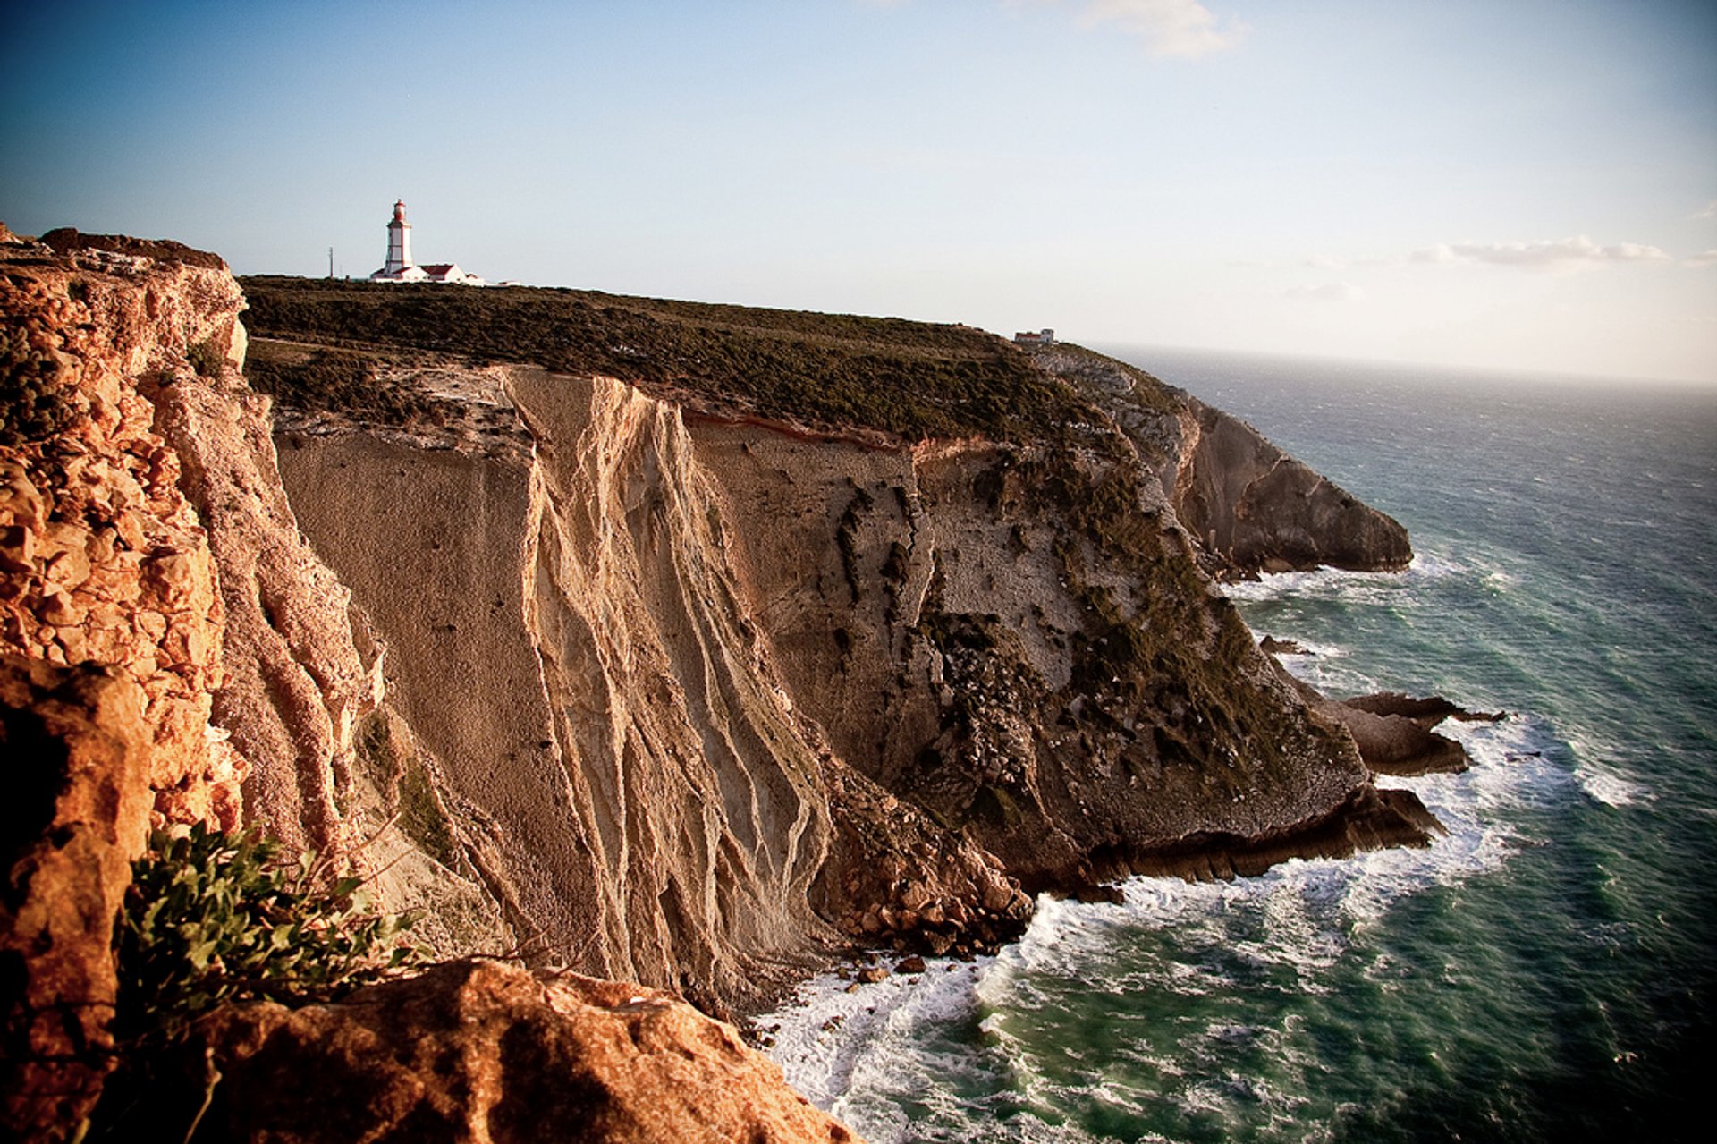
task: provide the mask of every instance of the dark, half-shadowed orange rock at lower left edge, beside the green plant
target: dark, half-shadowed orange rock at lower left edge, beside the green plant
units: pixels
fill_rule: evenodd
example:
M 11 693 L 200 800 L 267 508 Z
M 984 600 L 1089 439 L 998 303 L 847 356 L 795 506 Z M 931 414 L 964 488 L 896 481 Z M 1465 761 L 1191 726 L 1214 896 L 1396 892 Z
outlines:
M 113 670 L 0 656 L 7 1139 L 69 1139 L 113 1067 L 113 917 L 149 825 L 144 706 Z

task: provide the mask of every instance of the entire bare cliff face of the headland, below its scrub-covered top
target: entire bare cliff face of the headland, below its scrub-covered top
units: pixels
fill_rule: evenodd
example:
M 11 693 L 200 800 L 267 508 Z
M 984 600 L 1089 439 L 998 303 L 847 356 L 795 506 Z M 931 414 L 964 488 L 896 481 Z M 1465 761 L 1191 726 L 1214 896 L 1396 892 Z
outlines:
M 292 417 L 282 474 L 513 931 L 580 969 L 743 1007 L 836 934 L 986 948 L 1020 883 L 1427 837 L 1257 651 L 1137 436 L 908 445 L 531 368 L 388 383 L 452 407 Z M 1169 472 L 1183 412 L 1140 412 Z

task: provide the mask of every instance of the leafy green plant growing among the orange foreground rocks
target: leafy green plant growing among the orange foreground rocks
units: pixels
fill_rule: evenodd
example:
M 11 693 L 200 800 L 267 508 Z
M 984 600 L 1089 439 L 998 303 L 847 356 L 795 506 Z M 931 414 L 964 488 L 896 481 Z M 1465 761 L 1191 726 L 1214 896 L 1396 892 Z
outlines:
M 172 1034 L 225 1001 L 333 1000 L 417 957 L 412 919 L 379 914 L 361 878 L 254 831 L 155 833 L 118 926 L 125 1039 Z

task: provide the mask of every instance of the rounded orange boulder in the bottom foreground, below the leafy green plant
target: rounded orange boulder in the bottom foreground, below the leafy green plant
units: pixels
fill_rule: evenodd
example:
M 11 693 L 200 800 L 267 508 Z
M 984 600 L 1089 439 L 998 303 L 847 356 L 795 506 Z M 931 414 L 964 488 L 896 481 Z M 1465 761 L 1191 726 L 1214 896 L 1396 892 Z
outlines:
M 196 1123 L 213 1144 L 858 1139 L 676 996 L 496 962 L 338 1005 L 223 1008 L 156 1065 L 125 1123 L 172 1139 Z

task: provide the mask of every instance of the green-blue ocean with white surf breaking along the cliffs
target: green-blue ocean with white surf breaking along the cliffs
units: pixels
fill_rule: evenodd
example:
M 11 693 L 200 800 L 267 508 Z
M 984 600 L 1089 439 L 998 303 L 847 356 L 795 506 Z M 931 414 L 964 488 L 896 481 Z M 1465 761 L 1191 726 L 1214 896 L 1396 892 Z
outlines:
M 771 1050 L 871 1141 L 1710 1139 L 1717 392 L 1107 347 L 1413 536 L 1231 594 L 1336 696 L 1439 694 L 1427 850 L 1039 902 L 974 964 L 807 983 Z M 840 1017 L 840 1022 L 833 1022 Z

